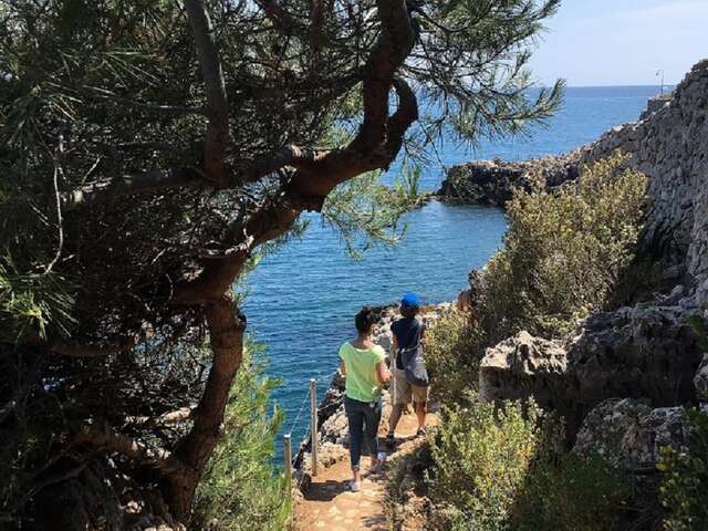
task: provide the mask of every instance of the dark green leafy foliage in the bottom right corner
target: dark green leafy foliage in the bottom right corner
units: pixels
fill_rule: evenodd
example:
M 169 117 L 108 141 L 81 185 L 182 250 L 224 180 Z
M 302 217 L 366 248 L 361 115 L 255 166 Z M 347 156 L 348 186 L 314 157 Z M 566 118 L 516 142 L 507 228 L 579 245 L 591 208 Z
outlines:
M 666 509 L 664 529 L 708 529 L 708 415 L 688 410 L 690 441 L 687 451 L 662 448 L 657 468 L 663 472 L 659 500 Z

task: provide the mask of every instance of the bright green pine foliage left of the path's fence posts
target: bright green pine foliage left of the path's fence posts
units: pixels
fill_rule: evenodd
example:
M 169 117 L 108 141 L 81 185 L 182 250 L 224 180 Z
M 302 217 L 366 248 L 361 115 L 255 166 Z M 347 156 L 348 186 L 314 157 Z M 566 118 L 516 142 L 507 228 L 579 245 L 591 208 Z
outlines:
M 270 462 L 282 414 L 269 416 L 268 397 L 278 382 L 262 372 L 251 345 L 231 388 L 225 436 L 197 490 L 195 529 L 280 531 L 290 519 L 288 482 Z

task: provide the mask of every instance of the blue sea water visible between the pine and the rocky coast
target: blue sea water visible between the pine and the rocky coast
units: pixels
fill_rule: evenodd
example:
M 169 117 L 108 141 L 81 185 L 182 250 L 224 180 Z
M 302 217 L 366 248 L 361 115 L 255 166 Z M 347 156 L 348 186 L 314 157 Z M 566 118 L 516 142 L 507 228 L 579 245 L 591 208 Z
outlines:
M 658 92 L 656 86 L 570 87 L 546 127 L 513 140 L 482 142 L 473 153 L 448 142 L 441 163 L 447 167 L 476 158 L 565 153 L 636 119 Z M 435 190 L 442 178 L 442 167 L 427 168 L 421 186 Z M 250 332 L 267 345 L 268 374 L 282 378 L 272 398 L 285 410 L 284 430 L 295 421 L 311 377 L 317 378 L 322 396 L 336 368 L 337 348 L 353 336 L 353 315 L 362 305 L 387 304 L 409 290 L 426 303 L 454 300 L 469 270 L 485 264 L 506 230 L 500 209 L 433 201 L 406 216 L 407 231 L 397 247 L 375 248 L 353 261 L 335 231 L 316 215 L 309 218 L 301 240 L 268 256 L 251 274 L 244 304 Z M 294 425 L 294 444 L 306 423 L 305 407 Z

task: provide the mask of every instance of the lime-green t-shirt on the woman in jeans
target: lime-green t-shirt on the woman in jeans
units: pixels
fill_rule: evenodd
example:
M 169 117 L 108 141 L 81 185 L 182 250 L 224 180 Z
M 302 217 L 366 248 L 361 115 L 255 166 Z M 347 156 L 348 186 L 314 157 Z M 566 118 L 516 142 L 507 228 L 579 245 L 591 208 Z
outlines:
M 384 350 L 355 348 L 350 342 L 340 347 L 340 357 L 344 361 L 346 384 L 344 394 L 360 402 L 374 402 L 381 397 L 381 384 L 376 377 L 376 365 L 386 358 Z

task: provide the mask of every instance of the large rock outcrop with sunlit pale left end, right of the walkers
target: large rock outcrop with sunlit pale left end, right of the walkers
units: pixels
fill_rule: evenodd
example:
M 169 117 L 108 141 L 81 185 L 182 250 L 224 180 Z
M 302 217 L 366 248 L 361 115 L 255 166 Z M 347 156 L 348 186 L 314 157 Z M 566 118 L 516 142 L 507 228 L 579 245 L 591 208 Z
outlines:
M 487 350 L 480 398 L 533 396 L 565 417 L 571 439 L 607 398 L 646 397 L 655 407 L 695 403 L 702 354 L 689 320 L 700 309 L 683 302 L 687 308 L 644 303 L 593 314 L 563 343 L 520 332 Z

